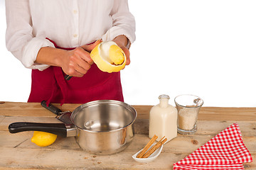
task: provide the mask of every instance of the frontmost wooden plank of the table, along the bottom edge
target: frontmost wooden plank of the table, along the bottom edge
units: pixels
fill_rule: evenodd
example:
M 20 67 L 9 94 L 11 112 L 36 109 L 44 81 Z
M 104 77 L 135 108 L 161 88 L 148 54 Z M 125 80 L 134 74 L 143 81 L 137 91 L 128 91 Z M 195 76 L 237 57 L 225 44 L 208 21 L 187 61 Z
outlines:
M 23 169 L 172 169 L 173 164 L 186 154 L 161 153 L 153 162 L 139 163 L 132 159 L 132 152 L 110 155 L 93 155 L 80 150 L 1 148 L 0 166 Z M 14 154 L 15 153 L 15 154 Z M 111 159 L 110 159 L 111 157 Z M 256 158 L 252 154 L 253 159 Z M 255 162 L 246 164 L 255 169 Z

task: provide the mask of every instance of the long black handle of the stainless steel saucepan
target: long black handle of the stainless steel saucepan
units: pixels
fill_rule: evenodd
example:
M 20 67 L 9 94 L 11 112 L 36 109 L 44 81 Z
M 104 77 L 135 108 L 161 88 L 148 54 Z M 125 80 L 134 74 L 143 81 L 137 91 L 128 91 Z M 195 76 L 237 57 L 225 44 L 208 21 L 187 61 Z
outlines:
M 64 123 L 26 123 L 17 122 L 9 125 L 9 132 L 41 131 L 49 132 L 61 137 L 67 137 L 67 128 Z

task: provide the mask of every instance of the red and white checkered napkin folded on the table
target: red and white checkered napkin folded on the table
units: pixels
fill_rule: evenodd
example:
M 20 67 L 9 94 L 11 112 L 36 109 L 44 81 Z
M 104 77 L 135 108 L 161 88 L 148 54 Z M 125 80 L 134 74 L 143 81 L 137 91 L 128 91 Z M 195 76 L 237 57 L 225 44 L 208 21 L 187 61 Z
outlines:
M 249 150 L 242 142 L 238 123 L 230 125 L 205 145 L 174 164 L 174 169 L 245 169 L 244 162 L 252 162 Z

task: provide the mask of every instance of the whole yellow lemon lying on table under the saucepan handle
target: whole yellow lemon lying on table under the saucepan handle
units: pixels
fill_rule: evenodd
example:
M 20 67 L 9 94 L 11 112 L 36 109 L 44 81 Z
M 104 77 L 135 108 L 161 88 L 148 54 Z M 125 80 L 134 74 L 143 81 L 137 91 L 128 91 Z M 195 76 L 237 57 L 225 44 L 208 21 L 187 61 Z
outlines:
M 57 135 L 48 132 L 33 132 L 31 142 L 35 143 L 39 147 L 47 147 L 55 142 Z

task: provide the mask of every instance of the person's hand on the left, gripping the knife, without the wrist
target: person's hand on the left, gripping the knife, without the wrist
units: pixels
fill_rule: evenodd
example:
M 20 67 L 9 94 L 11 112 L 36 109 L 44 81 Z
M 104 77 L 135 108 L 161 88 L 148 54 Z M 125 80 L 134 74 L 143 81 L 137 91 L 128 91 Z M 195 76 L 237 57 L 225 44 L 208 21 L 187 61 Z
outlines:
M 82 77 L 86 74 L 93 64 L 90 52 L 99 43 L 100 40 L 97 40 L 91 45 L 82 45 L 74 50 L 66 51 L 60 66 L 63 72 L 73 77 Z

